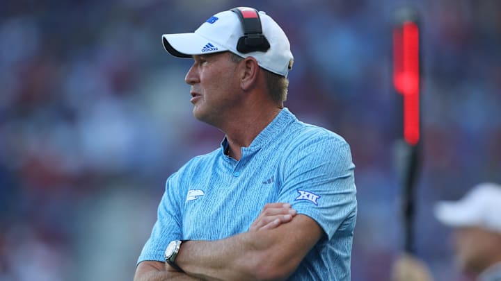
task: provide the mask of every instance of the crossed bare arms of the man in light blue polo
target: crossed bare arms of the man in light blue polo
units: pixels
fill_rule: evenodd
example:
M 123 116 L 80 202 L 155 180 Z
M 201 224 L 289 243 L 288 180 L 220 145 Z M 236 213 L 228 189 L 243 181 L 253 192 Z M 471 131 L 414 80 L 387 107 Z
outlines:
M 136 281 L 284 280 L 322 235 L 309 216 L 296 215 L 289 204 L 268 204 L 248 232 L 216 241 L 186 241 L 176 263 L 141 262 Z

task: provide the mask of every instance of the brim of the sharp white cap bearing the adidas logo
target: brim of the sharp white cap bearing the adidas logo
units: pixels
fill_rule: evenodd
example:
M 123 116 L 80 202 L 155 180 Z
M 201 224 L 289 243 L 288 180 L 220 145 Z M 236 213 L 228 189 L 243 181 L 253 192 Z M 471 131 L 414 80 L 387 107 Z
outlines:
M 164 34 L 162 35 L 162 42 L 166 51 L 179 58 L 191 58 L 193 55 L 228 51 L 225 47 L 210 42 L 210 40 L 197 33 Z M 209 43 L 212 44 L 212 47 L 204 48 Z

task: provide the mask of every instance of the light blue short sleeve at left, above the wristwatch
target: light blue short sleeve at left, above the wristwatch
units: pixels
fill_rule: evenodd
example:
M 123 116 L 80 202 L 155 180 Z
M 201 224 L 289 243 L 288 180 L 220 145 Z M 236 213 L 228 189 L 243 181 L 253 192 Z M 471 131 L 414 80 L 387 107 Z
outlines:
M 165 249 L 170 241 L 182 239 L 181 205 L 179 196 L 178 175 L 174 173 L 166 182 L 164 196 L 162 196 L 158 211 L 157 222 L 154 223 L 152 233 L 146 241 L 138 264 L 145 260 L 164 262 Z

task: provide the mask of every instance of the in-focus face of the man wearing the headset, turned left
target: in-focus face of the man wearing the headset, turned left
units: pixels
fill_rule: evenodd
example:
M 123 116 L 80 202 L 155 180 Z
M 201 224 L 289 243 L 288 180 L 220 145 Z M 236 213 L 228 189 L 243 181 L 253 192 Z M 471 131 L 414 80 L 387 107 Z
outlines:
M 193 56 L 193 65 L 184 80 L 191 85 L 193 115 L 218 126 L 239 101 L 238 63 L 229 52 Z

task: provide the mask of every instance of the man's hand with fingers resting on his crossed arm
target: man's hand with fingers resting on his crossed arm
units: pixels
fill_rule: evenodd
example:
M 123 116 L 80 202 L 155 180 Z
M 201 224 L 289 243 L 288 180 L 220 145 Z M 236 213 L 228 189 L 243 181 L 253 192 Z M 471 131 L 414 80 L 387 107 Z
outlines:
M 250 225 L 249 231 L 270 230 L 283 223 L 292 221 L 296 216 L 296 210 L 289 203 L 268 203 L 264 205 L 261 214 Z

